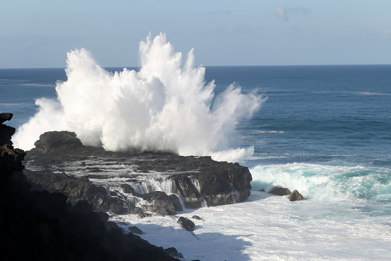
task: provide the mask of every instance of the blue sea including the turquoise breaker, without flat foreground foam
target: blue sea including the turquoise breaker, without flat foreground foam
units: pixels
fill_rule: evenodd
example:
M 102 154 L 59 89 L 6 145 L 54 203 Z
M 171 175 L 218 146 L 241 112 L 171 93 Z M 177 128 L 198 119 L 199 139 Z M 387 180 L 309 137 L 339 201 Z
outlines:
M 236 83 L 268 97 L 233 137 L 255 148 L 254 190 L 281 185 L 311 198 L 328 189 L 391 214 L 391 65 L 208 66 L 205 78 L 216 93 Z M 21 126 L 65 80 L 63 68 L 0 69 L 0 111 Z

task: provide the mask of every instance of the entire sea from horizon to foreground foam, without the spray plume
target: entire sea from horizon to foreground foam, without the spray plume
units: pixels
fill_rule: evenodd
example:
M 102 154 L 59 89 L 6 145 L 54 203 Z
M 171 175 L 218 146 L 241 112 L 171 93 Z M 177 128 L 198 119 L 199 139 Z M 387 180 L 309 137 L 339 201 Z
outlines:
M 22 126 L 66 80 L 64 68 L 0 69 L 0 112 L 14 113 L 5 124 Z M 194 233 L 172 217 L 111 219 L 185 260 L 391 260 L 391 65 L 206 66 L 212 80 L 216 94 L 235 82 L 267 97 L 230 141 L 254 146 L 242 163 L 251 196 L 180 213 L 203 218 Z M 307 200 L 260 192 L 275 186 Z

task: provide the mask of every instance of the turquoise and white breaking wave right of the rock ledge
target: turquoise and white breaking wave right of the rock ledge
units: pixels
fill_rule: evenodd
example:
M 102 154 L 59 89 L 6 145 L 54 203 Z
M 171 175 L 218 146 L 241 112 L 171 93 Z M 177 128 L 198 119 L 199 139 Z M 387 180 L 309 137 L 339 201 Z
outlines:
M 391 202 L 391 169 L 305 163 L 258 165 L 250 169 L 253 190 L 276 186 L 318 199 L 360 198 Z

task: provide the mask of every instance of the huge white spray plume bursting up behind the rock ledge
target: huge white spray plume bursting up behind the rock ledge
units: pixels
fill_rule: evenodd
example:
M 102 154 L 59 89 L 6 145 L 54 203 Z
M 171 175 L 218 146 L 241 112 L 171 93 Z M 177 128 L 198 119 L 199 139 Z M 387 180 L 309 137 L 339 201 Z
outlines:
M 231 149 L 235 124 L 252 117 L 262 97 L 242 94 L 230 85 L 212 108 L 214 82 L 205 68 L 194 66 L 193 49 L 182 66 L 166 35 L 140 43 L 140 71 L 114 74 L 95 63 L 86 49 L 67 53 L 67 81 L 57 82 L 57 101 L 38 99 L 38 112 L 13 138 L 30 150 L 45 131 L 74 131 L 84 145 L 108 151 L 164 151 L 212 155 L 215 160 L 243 161 L 253 147 Z

